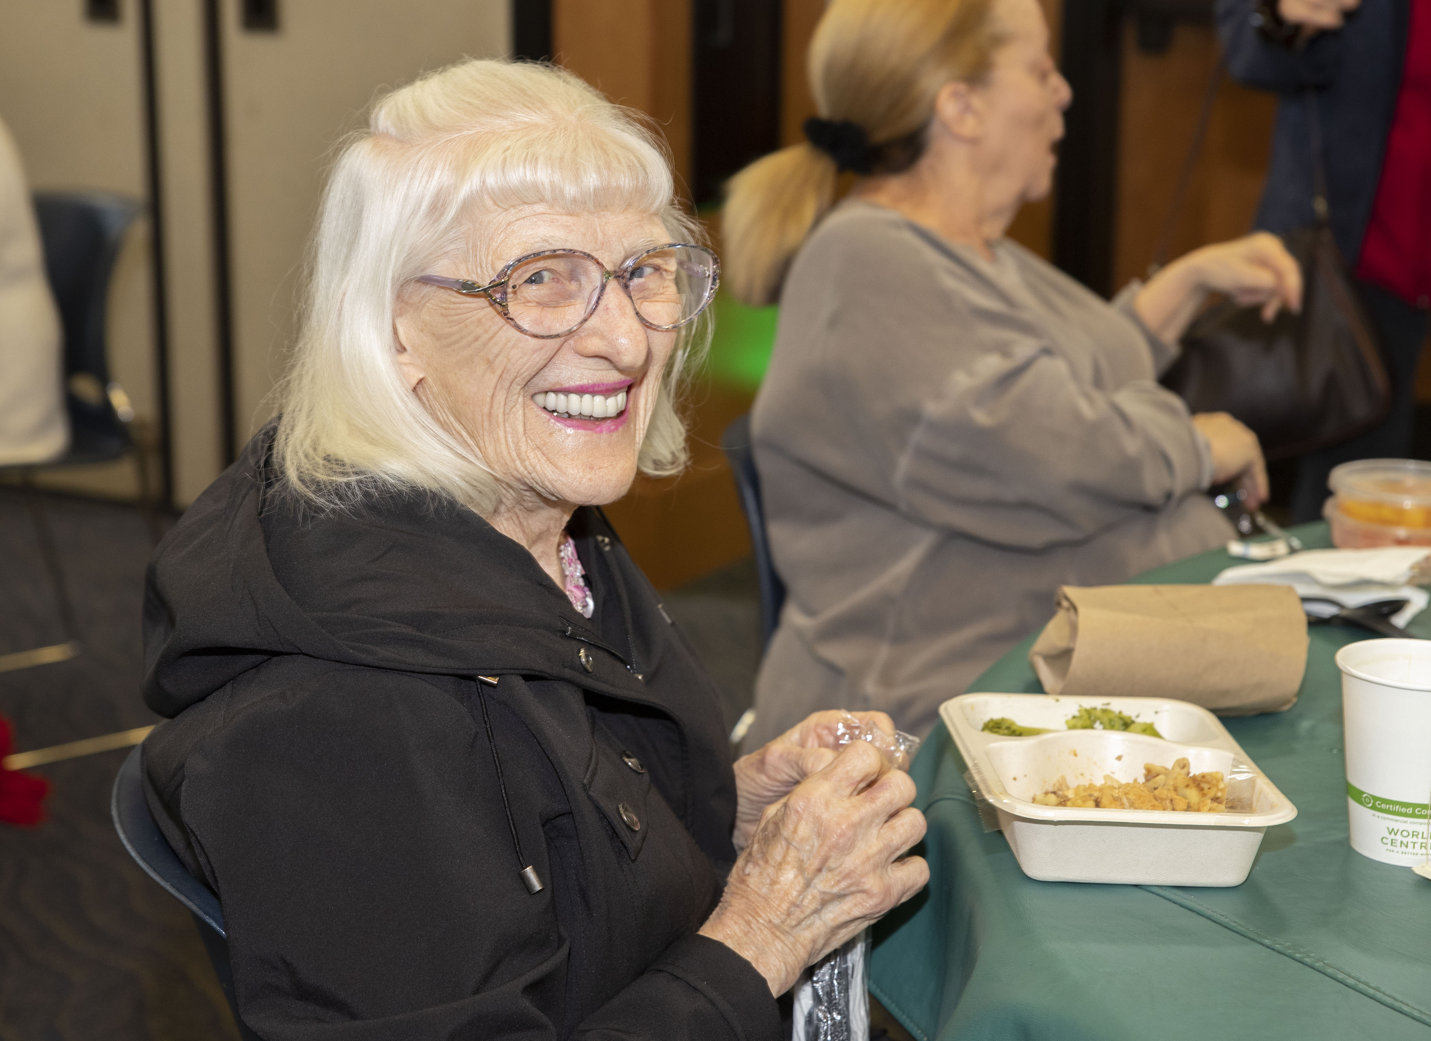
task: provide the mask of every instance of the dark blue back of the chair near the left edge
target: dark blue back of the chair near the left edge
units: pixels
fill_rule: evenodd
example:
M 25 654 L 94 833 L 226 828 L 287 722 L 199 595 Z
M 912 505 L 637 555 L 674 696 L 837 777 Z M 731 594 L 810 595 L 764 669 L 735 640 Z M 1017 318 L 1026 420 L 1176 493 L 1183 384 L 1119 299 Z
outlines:
M 64 330 L 69 462 L 112 459 L 129 448 L 129 435 L 110 400 L 104 329 L 114 262 L 142 210 L 133 199 L 102 192 L 34 196 L 44 272 Z

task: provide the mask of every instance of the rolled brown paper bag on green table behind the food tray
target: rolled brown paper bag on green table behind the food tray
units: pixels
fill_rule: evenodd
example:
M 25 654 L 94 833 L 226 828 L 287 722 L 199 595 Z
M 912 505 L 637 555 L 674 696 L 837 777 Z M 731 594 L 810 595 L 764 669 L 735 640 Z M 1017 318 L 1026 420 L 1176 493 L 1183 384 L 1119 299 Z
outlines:
M 1069 698 L 1284 712 L 1307 668 L 1307 615 L 1284 585 L 1062 586 L 1029 662 Z

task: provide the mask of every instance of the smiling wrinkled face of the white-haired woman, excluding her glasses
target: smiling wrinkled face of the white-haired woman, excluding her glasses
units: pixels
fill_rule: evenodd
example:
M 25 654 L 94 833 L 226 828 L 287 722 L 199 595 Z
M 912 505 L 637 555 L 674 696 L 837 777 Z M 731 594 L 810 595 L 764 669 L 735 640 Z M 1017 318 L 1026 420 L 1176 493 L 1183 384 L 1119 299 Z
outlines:
M 512 260 L 544 249 L 578 249 L 617 270 L 628 257 L 670 242 L 650 213 L 507 212 L 484 226 L 485 270 L 438 265 L 432 275 L 487 285 Z M 570 505 L 621 498 L 661 393 L 677 332 L 637 319 L 612 279 L 601 305 L 577 332 L 535 339 L 508 325 L 482 296 L 411 286 L 398 300 L 398 362 L 408 386 L 448 429 L 458 429 L 494 476 L 517 495 Z M 587 398 L 601 418 L 581 418 Z M 548 409 L 565 403 L 567 416 Z

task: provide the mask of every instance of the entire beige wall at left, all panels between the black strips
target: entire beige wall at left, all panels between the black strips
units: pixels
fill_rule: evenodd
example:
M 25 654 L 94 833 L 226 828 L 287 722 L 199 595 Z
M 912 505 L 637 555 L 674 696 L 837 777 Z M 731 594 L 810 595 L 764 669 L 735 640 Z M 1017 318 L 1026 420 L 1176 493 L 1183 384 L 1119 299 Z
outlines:
M 519 0 L 518 0 L 519 1 Z M 278 33 L 245 31 L 222 0 L 235 325 L 236 438 L 270 415 L 293 337 L 295 292 L 331 149 L 381 87 L 462 56 L 509 50 L 509 0 L 280 0 Z M 218 476 L 209 149 L 200 0 L 155 0 L 165 192 L 175 499 Z M 0 117 L 31 187 L 146 194 L 137 3 L 120 24 L 83 0 L 0 0 Z M 149 226 L 126 243 L 110 299 L 114 376 L 153 418 Z M 127 465 L 69 472 L 64 486 L 133 495 Z M 56 483 L 56 480 L 50 480 Z

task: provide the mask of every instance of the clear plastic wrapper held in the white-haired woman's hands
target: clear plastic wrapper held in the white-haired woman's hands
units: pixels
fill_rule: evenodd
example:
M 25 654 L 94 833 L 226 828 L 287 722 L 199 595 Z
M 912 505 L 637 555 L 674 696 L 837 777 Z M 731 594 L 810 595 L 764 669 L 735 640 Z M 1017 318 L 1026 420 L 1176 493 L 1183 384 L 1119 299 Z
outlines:
M 892 769 L 909 769 L 919 738 L 896 731 L 893 736 L 866 726 L 846 712 L 836 724 L 836 744 L 867 741 L 880 749 Z M 836 948 L 801 974 L 796 984 L 793 1041 L 866 1041 L 870 1035 L 870 931 Z

